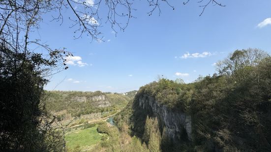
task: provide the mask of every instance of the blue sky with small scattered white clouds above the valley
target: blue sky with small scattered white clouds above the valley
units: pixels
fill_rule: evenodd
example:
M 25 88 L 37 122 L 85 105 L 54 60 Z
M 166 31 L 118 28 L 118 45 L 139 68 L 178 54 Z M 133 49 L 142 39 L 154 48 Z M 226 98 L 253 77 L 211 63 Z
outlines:
M 87 36 L 73 39 L 75 29 L 69 28 L 67 19 L 73 15 L 70 9 L 63 13 L 62 25 L 50 22 L 54 13 L 44 15 L 32 38 L 77 56 L 45 89 L 126 92 L 158 75 L 189 83 L 199 75 L 212 75 L 213 64 L 237 49 L 271 53 L 271 0 L 221 0 L 226 7 L 210 5 L 201 17 L 202 8 L 194 0 L 186 5 L 181 0 L 170 2 L 174 10 L 161 3 L 160 16 L 157 11 L 148 16 L 148 3 L 135 1 L 137 18 L 124 32 L 117 30 L 117 36 L 101 21 L 105 41 L 101 43 Z

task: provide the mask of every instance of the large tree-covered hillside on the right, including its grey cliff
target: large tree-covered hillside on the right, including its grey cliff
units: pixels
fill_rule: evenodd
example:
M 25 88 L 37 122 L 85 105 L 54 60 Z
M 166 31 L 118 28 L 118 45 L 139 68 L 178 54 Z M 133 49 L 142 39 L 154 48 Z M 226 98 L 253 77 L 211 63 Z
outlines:
M 213 76 L 189 84 L 161 78 L 141 87 L 115 121 L 119 128 L 128 124 L 149 149 L 155 139 L 151 152 L 268 152 L 270 86 L 270 55 L 237 50 L 217 63 Z

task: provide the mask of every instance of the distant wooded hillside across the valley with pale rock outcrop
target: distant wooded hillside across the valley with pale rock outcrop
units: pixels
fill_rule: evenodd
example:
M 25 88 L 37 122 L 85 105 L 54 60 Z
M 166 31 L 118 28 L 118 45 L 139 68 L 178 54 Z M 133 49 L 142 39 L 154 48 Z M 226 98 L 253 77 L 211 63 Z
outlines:
M 80 117 L 91 113 L 114 113 L 132 99 L 122 94 L 100 91 L 46 91 L 45 93 L 47 110 L 56 113 L 61 119 L 64 118 L 63 114 Z

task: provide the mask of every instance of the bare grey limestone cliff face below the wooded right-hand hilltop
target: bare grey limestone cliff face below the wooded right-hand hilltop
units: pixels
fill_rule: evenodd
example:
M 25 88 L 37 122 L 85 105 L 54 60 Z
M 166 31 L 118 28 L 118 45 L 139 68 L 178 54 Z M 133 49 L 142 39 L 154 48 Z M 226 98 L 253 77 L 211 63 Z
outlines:
M 167 136 L 173 141 L 181 139 L 183 129 L 187 133 L 188 140 L 192 141 L 191 116 L 169 109 L 166 105 L 160 104 L 154 98 L 147 95 L 139 98 L 140 108 L 151 110 L 152 116 L 157 117 L 166 129 Z

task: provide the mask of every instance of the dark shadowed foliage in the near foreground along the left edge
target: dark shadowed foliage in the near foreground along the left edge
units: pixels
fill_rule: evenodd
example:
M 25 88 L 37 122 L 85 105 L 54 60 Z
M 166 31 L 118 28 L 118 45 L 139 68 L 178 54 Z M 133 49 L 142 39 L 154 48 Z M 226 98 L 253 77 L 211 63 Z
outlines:
M 13 48 L 2 38 L 0 42 L 0 151 L 34 152 L 61 149 L 62 135 L 51 126 L 56 119 L 50 118 L 44 108 L 43 87 L 48 82 L 45 76 L 63 62 L 62 51 L 49 50 L 50 55 L 43 56 L 27 48 L 24 50 Z M 16 41 L 11 40 L 11 42 Z M 16 45 L 20 46 L 19 43 Z

